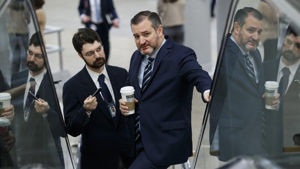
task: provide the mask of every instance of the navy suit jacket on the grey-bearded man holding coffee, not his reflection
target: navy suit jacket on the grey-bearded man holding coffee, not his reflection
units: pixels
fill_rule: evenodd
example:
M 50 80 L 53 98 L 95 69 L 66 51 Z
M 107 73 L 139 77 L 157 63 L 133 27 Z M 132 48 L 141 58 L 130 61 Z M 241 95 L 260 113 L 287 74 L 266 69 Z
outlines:
M 137 79 L 141 60 L 138 50 L 132 54 L 126 86 L 133 86 L 140 110 L 140 129 L 144 149 L 159 166 L 185 163 L 192 155 L 191 100 L 193 88 L 203 94 L 211 87 L 211 78 L 196 60 L 195 52 L 172 38 L 160 48 L 150 81 L 143 95 Z M 131 157 L 134 158 L 135 114 L 128 116 Z

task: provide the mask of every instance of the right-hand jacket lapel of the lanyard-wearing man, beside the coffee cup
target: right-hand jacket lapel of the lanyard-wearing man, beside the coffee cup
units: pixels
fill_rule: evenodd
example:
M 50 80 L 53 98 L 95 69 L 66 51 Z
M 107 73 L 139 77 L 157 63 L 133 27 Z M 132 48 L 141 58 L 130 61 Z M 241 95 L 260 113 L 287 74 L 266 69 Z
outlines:
M 106 70 L 107 70 L 107 73 L 109 75 L 109 80 L 110 80 L 110 83 L 112 85 L 112 88 L 113 88 L 113 95 L 115 96 L 115 108 L 116 108 L 116 116 L 115 116 L 115 127 L 117 126 L 118 124 L 118 121 L 120 119 L 120 105 L 118 104 L 119 103 L 119 99 L 121 98 L 121 93 L 120 93 L 120 88 L 122 86 L 120 86 L 120 81 L 118 80 L 117 78 L 117 74 L 107 65 L 106 66 Z

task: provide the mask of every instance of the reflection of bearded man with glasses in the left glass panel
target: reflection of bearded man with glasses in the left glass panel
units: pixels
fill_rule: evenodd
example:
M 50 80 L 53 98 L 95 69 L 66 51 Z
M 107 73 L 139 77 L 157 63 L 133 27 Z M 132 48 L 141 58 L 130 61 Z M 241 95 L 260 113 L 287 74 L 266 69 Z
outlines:
M 29 40 L 27 67 L 28 70 L 11 78 L 11 88 L 24 86 L 24 94 L 12 101 L 15 107 L 12 127 L 16 135 L 17 163 L 20 166 L 44 163 L 61 167 L 64 165 L 60 141 L 62 125 L 36 33 Z

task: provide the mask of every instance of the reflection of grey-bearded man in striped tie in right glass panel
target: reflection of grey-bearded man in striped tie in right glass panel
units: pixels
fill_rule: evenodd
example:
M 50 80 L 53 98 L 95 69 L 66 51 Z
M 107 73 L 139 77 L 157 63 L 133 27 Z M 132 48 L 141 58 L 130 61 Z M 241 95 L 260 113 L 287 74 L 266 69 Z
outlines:
M 263 16 L 251 7 L 236 12 L 221 61 L 210 109 L 210 144 L 219 160 L 265 154 L 263 128 L 264 73 L 259 50 Z M 278 96 L 273 106 L 278 105 Z M 216 132 L 218 131 L 218 132 Z M 212 149 L 213 147 L 211 147 Z

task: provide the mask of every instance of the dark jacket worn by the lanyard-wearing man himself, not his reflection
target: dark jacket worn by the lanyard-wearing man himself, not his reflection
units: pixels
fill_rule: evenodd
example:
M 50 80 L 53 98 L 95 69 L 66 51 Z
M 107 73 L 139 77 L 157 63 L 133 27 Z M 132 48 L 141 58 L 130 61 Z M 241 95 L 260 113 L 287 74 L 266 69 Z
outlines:
M 105 65 L 115 101 L 121 99 L 120 89 L 124 86 L 128 73 L 125 69 Z M 67 133 L 81 139 L 81 168 L 117 168 L 119 155 L 125 165 L 130 165 L 128 156 L 129 131 L 127 119 L 121 115 L 116 104 L 116 124 L 101 95 L 97 95 L 97 108 L 89 119 L 83 107 L 84 101 L 97 90 L 86 67 L 70 78 L 63 87 L 64 116 Z

